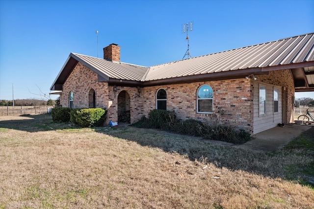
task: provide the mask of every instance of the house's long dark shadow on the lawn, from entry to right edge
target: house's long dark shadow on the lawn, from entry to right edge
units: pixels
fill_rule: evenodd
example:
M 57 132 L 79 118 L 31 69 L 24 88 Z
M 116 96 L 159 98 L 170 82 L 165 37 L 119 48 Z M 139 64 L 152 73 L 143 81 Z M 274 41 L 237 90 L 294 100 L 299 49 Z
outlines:
M 102 129 L 96 128 L 95 131 L 102 132 Z M 187 156 L 191 161 L 213 163 L 217 167 L 243 170 L 265 177 L 293 180 L 314 188 L 314 177 L 312 173 L 309 175 L 308 172 L 314 169 L 314 150 L 311 149 L 286 148 L 273 153 L 266 153 L 242 149 L 231 143 L 221 141 L 134 127 L 117 127 L 103 133 L 134 141 L 142 146 L 160 148 L 169 153 L 178 153 Z M 300 137 L 308 136 L 311 138 L 314 136 L 312 133 L 314 133 L 314 127 Z M 314 141 L 314 139 L 312 140 Z M 310 161 L 312 163 L 309 163 Z

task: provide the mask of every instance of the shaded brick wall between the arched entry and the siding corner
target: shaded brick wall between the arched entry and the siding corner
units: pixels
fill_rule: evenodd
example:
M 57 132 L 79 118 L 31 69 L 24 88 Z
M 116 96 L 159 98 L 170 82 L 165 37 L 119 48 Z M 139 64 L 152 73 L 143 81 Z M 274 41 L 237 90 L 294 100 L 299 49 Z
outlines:
M 213 113 L 196 113 L 196 96 L 200 86 L 207 84 L 213 90 Z M 143 110 L 141 114 L 134 113 L 131 122 L 139 120 L 143 115 L 148 116 L 156 109 L 156 93 L 159 89 L 166 90 L 167 110 L 174 111 L 179 119 L 194 118 L 205 122 L 219 121 L 235 125 L 241 129 L 251 130 L 253 127 L 251 113 L 251 84 L 247 79 L 232 79 L 223 81 L 196 82 L 189 84 L 162 85 L 145 87 L 141 93 Z M 224 114 L 218 113 L 224 110 Z

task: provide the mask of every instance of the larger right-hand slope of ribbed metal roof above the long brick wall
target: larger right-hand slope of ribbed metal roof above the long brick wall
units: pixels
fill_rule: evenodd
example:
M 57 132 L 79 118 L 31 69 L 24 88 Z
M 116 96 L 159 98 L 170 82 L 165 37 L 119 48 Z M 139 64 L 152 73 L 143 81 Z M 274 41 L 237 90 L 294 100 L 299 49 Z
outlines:
M 145 81 L 272 66 L 289 69 L 289 64 L 309 61 L 314 61 L 314 33 L 153 66 Z

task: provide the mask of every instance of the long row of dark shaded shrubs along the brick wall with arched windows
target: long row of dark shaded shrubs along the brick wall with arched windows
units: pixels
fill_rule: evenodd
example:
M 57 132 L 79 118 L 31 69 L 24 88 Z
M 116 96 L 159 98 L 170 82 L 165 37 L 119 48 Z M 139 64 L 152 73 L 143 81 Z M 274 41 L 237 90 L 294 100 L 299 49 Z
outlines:
M 133 123 L 132 126 L 138 128 L 156 128 L 178 134 L 227 141 L 235 144 L 241 144 L 252 139 L 249 133 L 244 130 L 235 131 L 230 125 L 219 123 L 206 124 L 195 119 L 179 121 L 174 112 L 166 110 L 152 110 L 148 114 L 148 118 L 142 117 L 139 121 Z

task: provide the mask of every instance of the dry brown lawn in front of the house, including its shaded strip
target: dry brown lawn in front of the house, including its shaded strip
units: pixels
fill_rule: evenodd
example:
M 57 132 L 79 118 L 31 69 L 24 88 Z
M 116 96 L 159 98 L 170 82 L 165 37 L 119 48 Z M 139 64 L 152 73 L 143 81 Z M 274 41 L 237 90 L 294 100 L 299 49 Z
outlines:
M 0 117 L 0 208 L 314 208 L 313 189 L 285 180 L 313 162 L 297 153 L 29 118 Z

